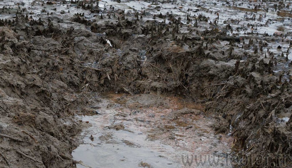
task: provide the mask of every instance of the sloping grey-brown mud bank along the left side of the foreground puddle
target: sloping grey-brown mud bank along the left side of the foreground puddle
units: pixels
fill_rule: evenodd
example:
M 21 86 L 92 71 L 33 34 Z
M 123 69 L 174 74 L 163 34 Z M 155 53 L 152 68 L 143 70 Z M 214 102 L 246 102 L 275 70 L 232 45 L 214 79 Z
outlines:
M 75 93 L 82 71 L 75 59 L 46 53 L 61 50 L 51 38 L 20 40 L 5 27 L 0 34 L 1 166 L 71 167 L 83 125 L 72 116 L 92 97 Z

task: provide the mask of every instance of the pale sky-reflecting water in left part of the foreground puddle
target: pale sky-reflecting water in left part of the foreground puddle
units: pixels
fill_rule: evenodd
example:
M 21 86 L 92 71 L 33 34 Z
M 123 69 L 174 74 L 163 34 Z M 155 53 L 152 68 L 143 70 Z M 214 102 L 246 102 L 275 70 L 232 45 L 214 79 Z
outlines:
M 101 115 L 78 116 L 84 121 L 89 121 L 92 127 L 84 134 L 84 143 L 72 153 L 76 160 L 81 160 L 90 167 L 137 167 L 138 164 L 146 162 L 153 167 L 178 167 L 178 161 L 173 160 L 175 152 L 171 146 L 164 145 L 160 141 L 147 141 L 146 134 L 131 127 L 133 121 L 118 121 L 115 115 L 118 111 L 106 105 L 111 101 L 105 101 L 104 107 L 100 108 Z M 117 105 L 118 107 L 119 105 Z M 127 130 L 108 129 L 106 126 L 122 124 Z M 94 139 L 91 139 L 91 135 Z M 107 138 L 107 135 L 110 135 Z M 128 146 L 124 141 L 137 144 Z M 163 157 L 161 157 L 163 156 Z M 78 165 L 77 167 L 84 167 Z

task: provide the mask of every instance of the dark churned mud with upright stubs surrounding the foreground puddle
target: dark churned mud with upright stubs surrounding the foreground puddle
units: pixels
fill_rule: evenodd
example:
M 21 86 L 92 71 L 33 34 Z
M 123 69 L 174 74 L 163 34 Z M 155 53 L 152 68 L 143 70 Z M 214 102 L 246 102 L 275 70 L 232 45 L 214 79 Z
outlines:
M 11 17 L 0 20 L 2 165 L 74 166 L 71 151 L 82 122 L 73 115 L 91 111 L 85 108 L 89 92 L 105 90 L 205 102 L 216 131 L 227 134 L 232 126 L 240 153 L 234 156 L 263 154 L 275 165 L 283 155 L 290 159 L 291 121 L 279 119 L 292 105 L 290 34 L 256 32 L 276 21 L 263 15 L 268 7 L 285 14 L 288 2 L 249 3 L 245 20 L 221 18 L 201 5 L 196 12 L 211 18 L 187 9 L 187 15 L 162 14 L 156 3 L 128 12 L 98 1 L 29 2 L 38 12 L 1 8 Z M 267 22 L 247 24 L 256 20 Z

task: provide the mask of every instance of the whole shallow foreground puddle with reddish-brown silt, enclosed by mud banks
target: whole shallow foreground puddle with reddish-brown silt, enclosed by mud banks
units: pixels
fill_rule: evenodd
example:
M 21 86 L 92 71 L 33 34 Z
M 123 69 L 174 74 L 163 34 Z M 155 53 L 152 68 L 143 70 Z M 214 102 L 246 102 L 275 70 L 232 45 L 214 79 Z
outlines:
M 92 126 L 83 132 L 83 143 L 72 153 L 74 160 L 82 161 L 77 167 L 185 167 L 187 156 L 191 167 L 231 167 L 226 153 L 233 139 L 222 135 L 218 140 L 208 126 L 210 119 L 190 114 L 172 118 L 172 109 L 190 103 L 176 97 L 103 95 L 106 97 L 98 104 L 100 115 L 78 116 Z M 161 105 L 166 99 L 170 104 Z M 152 100 L 148 108 L 143 106 L 145 100 Z M 131 106 L 136 101 L 143 107 Z M 196 107 L 202 105 L 190 109 Z M 204 157 L 202 165 L 199 162 Z

